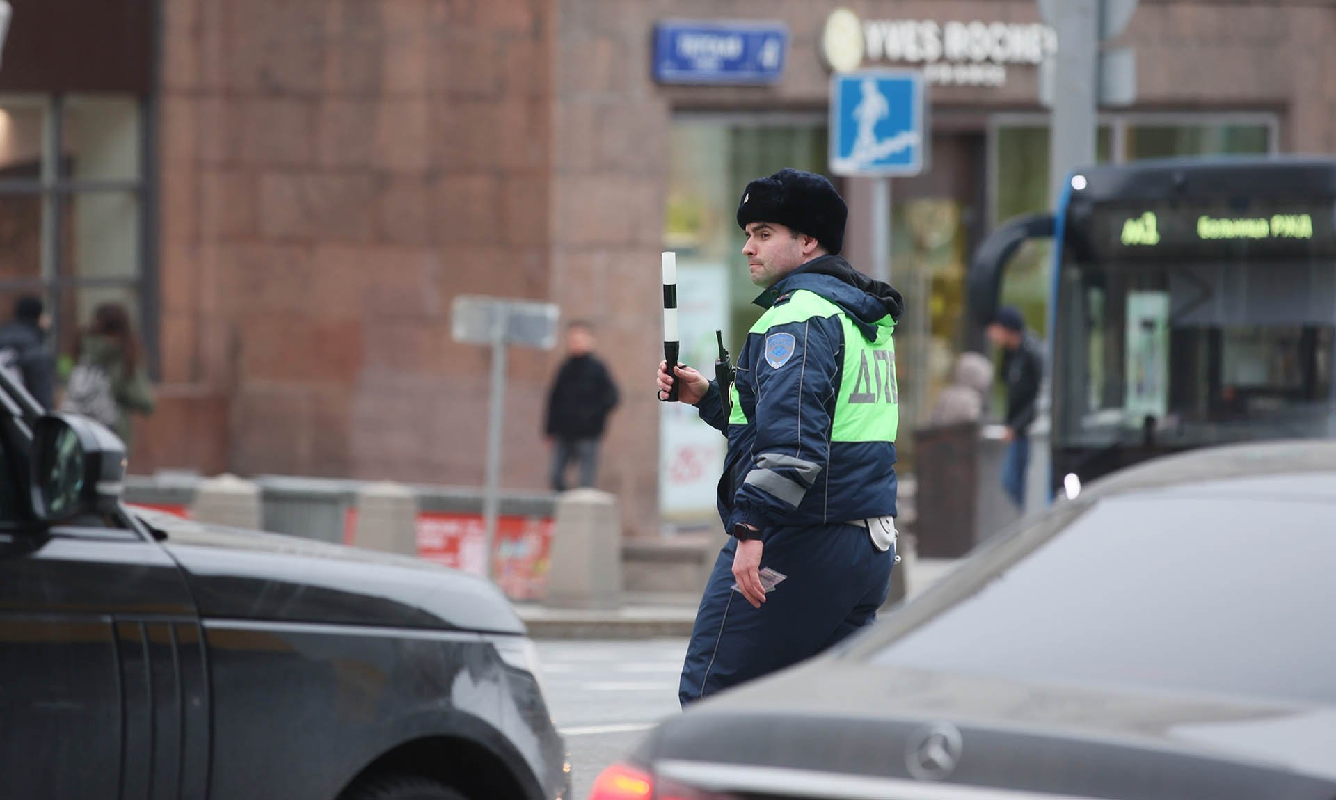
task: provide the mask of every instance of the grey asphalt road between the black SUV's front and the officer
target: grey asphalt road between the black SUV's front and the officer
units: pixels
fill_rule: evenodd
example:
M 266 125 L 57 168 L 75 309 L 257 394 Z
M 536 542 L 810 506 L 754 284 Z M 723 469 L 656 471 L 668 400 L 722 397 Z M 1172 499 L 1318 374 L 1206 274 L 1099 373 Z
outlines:
M 570 752 L 573 800 L 656 721 L 681 713 L 685 638 L 538 641 L 548 707 Z

